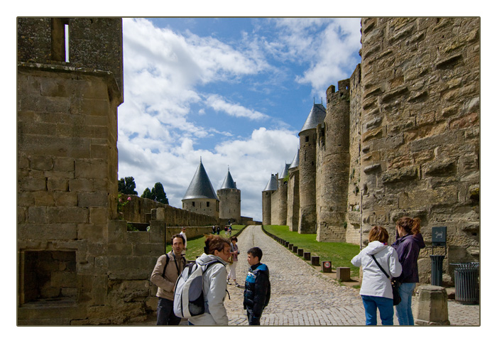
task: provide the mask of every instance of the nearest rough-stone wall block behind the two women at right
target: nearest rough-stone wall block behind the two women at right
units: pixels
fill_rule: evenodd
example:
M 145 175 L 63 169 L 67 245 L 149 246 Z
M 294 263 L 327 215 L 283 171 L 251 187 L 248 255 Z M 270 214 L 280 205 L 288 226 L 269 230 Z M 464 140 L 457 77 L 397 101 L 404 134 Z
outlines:
M 447 227 L 449 263 L 479 259 L 479 18 L 364 18 L 363 224 Z M 364 238 L 364 237 L 363 237 Z M 422 282 L 431 249 L 422 249 Z M 447 278 L 447 279 L 446 279 Z

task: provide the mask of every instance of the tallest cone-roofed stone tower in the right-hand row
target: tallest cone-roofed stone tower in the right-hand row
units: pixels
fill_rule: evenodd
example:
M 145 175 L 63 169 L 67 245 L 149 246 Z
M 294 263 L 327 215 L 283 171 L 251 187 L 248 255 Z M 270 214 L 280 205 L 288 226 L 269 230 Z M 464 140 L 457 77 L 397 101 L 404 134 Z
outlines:
M 314 104 L 299 133 L 300 215 L 298 232 L 300 234 L 316 233 L 316 129 L 323 123 L 325 116 L 324 106 Z

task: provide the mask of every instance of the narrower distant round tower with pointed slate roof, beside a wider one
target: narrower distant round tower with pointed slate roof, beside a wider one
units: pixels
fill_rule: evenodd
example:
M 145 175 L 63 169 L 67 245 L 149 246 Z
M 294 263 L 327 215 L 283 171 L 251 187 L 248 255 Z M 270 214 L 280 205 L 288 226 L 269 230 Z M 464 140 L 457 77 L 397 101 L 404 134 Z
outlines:
M 231 173 L 226 173 L 221 188 L 217 190 L 219 198 L 219 223 L 239 223 L 241 220 L 241 192 L 236 189 L 236 183 Z

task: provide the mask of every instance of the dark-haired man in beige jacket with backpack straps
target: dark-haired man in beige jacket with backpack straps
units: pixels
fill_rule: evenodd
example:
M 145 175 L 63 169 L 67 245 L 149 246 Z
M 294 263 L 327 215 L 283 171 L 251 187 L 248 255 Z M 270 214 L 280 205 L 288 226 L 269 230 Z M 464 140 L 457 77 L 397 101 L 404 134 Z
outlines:
M 173 311 L 174 287 L 178 276 L 185 268 L 186 260 L 182 256 L 185 239 L 180 234 L 171 237 L 173 249 L 167 255 L 160 256 L 153 268 L 151 281 L 157 288 L 157 325 L 179 325 L 181 318 Z

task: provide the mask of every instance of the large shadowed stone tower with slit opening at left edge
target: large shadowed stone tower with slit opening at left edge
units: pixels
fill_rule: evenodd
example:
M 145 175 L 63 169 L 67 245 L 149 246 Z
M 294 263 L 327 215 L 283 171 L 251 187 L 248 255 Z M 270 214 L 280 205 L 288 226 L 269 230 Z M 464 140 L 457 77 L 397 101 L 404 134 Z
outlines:
M 17 44 L 18 325 L 108 323 L 121 18 L 17 18 Z

